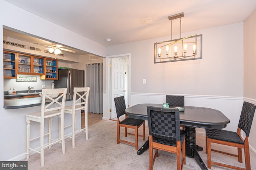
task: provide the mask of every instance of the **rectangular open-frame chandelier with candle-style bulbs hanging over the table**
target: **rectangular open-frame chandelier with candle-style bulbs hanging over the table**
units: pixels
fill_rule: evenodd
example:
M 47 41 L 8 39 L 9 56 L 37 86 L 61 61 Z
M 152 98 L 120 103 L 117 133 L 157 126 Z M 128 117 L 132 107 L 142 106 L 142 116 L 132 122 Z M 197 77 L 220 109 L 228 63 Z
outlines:
M 202 34 L 192 34 L 181 38 L 181 18 L 184 13 L 169 16 L 171 21 L 171 40 L 154 44 L 154 63 L 166 63 L 202 59 Z M 172 39 L 172 20 L 180 18 L 180 38 Z

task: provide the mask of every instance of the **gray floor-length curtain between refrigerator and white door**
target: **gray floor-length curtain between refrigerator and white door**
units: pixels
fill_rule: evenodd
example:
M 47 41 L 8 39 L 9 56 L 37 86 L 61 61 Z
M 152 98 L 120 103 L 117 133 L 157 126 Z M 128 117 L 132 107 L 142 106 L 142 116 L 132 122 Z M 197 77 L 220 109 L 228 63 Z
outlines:
M 90 87 L 88 111 L 103 113 L 103 63 L 86 64 L 86 86 Z

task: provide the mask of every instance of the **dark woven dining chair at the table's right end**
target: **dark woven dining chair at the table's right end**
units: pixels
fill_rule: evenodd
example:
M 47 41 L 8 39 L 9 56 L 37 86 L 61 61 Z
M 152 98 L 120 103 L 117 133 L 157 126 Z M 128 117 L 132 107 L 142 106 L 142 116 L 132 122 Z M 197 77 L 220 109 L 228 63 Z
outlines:
M 244 169 L 240 167 L 235 167 L 227 164 L 222 164 L 218 162 L 211 161 L 211 151 L 220 152 L 222 154 L 228 154 L 231 156 L 238 157 L 238 162 L 242 163 L 242 148 L 244 149 L 245 155 L 245 169 L 250 170 L 250 150 L 249 150 L 249 133 L 252 126 L 252 120 L 254 116 L 256 106 L 248 102 L 244 102 L 242 107 L 242 112 L 240 115 L 240 120 L 238 123 L 237 132 L 226 131 L 222 129 L 206 129 L 206 152 L 208 158 L 208 168 L 211 168 L 211 165 L 218 165 L 232 169 Z M 246 137 L 245 139 L 241 136 L 241 130 L 244 131 Z M 232 147 L 237 147 L 238 154 L 230 154 L 227 152 L 222 152 L 219 150 L 211 149 L 211 143 L 218 143 L 222 145 L 228 145 Z

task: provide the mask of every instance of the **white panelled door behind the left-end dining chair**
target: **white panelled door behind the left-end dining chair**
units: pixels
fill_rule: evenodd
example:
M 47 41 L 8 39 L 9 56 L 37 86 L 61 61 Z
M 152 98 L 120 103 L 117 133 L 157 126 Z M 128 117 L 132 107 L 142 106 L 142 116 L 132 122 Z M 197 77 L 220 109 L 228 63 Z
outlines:
M 110 60 L 111 62 L 111 115 L 110 119 L 116 118 L 116 106 L 114 98 L 124 96 L 126 108 L 128 107 L 128 64 L 118 58 Z

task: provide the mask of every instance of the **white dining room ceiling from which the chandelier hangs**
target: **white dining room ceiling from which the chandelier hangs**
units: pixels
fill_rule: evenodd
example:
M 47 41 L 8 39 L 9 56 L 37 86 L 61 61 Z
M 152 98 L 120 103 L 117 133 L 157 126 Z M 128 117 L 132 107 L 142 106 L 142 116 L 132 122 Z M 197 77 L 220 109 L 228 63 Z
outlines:
M 256 0 L 5 1 L 104 46 L 170 35 L 168 16 L 181 12 L 182 32 L 188 32 L 243 22 L 256 9 Z M 179 26 L 174 20 L 173 34 Z

